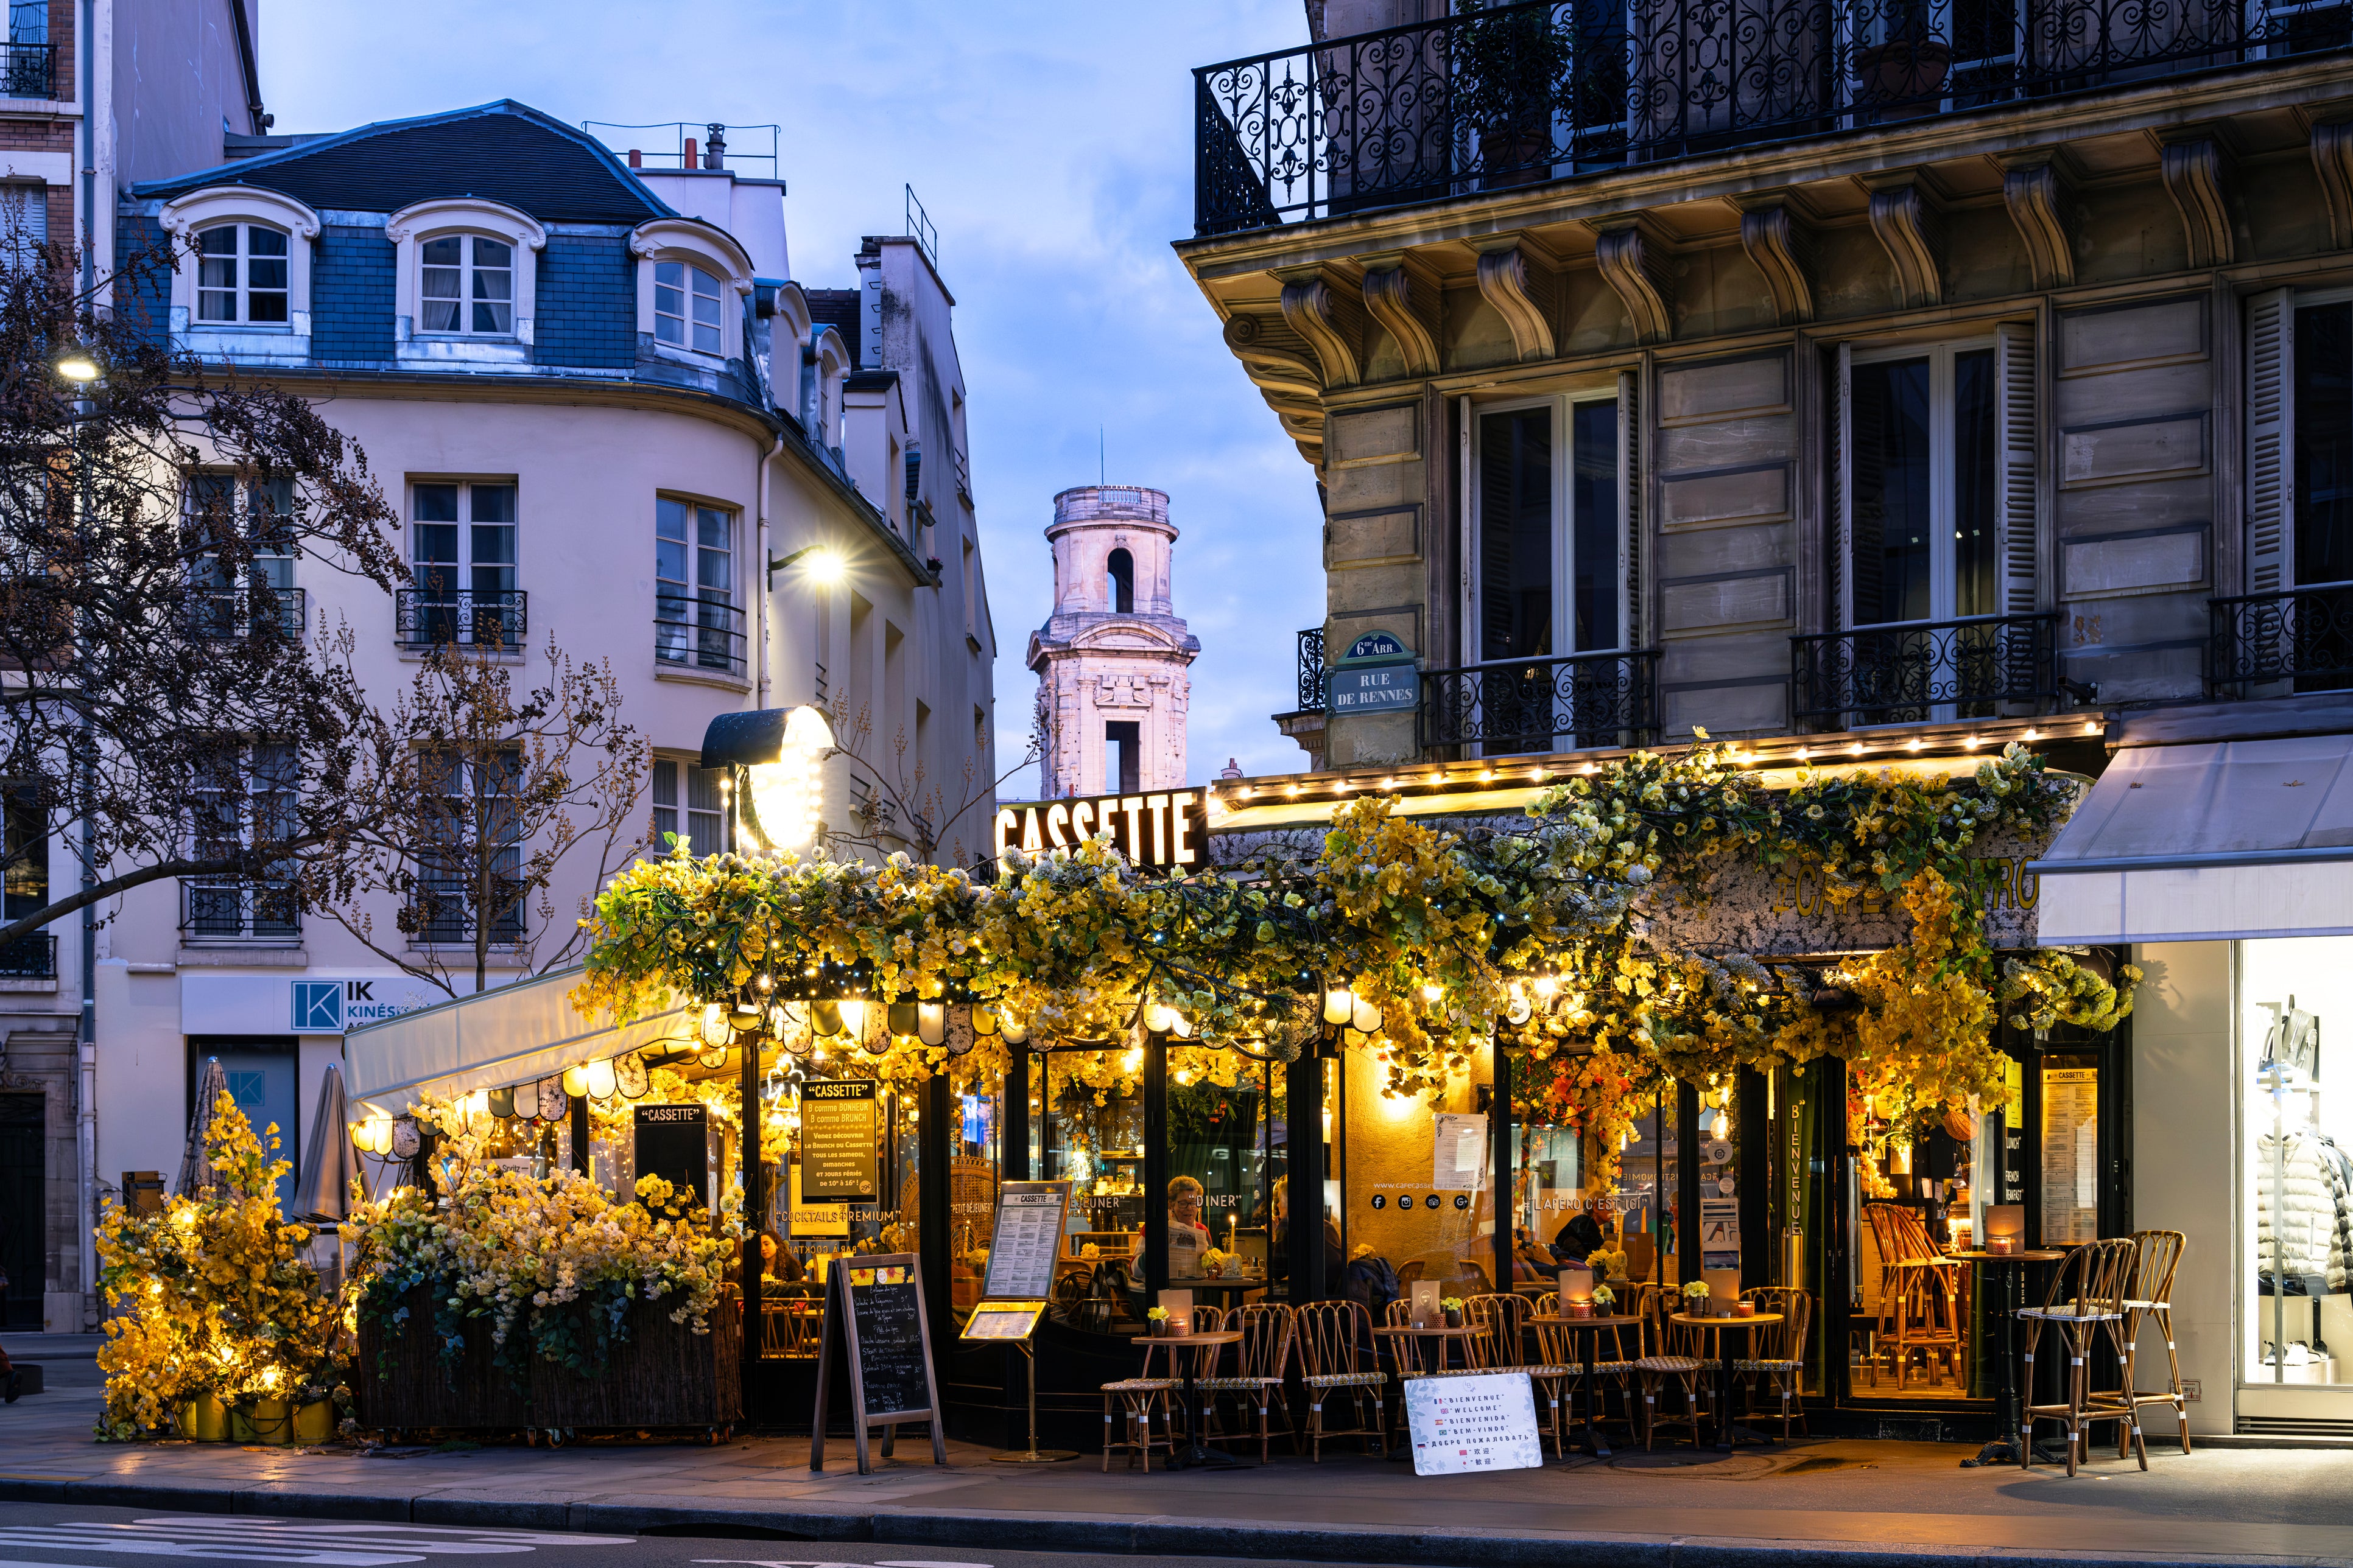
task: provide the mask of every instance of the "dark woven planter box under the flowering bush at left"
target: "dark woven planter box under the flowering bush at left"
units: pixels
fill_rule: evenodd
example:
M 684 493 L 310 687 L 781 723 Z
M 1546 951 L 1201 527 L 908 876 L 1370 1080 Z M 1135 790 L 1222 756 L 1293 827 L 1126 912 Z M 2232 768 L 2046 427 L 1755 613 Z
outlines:
M 734 1295 L 711 1309 L 711 1333 L 673 1324 L 659 1302 L 635 1302 L 628 1340 L 612 1347 L 602 1375 L 532 1361 L 529 1387 L 492 1366 L 489 1324 L 468 1319 L 466 1349 L 440 1361 L 433 1307 L 409 1298 L 405 1324 L 360 1319 L 360 1363 L 351 1380 L 362 1427 L 725 1427 L 744 1420 L 744 1328 Z M 388 1373 L 388 1375 L 379 1375 Z

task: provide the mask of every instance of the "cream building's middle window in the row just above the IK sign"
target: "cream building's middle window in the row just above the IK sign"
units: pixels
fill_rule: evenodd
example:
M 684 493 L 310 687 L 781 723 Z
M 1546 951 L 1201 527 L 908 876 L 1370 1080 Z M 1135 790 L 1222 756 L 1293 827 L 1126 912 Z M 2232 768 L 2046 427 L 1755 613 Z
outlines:
M 522 938 L 522 827 L 515 816 L 520 750 L 424 759 L 414 936 L 421 943 Z

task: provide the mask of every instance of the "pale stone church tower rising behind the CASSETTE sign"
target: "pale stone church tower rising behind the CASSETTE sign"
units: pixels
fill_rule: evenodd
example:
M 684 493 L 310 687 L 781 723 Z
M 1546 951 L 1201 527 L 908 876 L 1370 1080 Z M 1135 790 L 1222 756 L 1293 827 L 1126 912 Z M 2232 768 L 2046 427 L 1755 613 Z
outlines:
M 1184 785 L 1186 665 L 1200 642 L 1169 604 L 1169 498 L 1080 484 L 1054 496 L 1054 614 L 1031 632 L 1040 795 Z

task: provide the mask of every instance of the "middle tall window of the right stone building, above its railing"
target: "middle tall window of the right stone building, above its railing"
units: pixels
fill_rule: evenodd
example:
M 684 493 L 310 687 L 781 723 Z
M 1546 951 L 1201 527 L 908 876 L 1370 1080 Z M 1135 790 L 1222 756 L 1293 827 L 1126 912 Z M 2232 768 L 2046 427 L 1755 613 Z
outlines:
M 1993 350 L 1857 357 L 1849 625 L 2000 611 Z

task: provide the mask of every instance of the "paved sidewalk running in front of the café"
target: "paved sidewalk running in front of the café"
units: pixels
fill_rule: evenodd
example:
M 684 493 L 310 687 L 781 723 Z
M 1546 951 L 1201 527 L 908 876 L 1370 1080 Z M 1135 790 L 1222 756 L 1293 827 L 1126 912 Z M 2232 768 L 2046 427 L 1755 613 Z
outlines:
M 94 1368 L 92 1368 L 94 1371 Z M 2097 1458 L 1960 1469 L 1941 1443 L 1807 1441 L 1694 1455 L 1621 1450 L 1499 1476 L 1414 1476 L 1402 1462 L 1282 1453 L 1224 1474 L 1009 1467 L 901 1439 L 859 1476 L 847 1441 L 809 1474 L 807 1439 L 699 1446 L 238 1448 L 94 1443 L 96 1387 L 0 1408 L 0 1500 L 165 1512 L 499 1523 L 602 1533 L 774 1530 L 908 1547 L 1289 1556 L 1353 1563 L 1579 1568 L 1875 1568 L 1880 1563 L 2344 1563 L 2353 1458 L 2153 1443 L 2148 1474 Z

